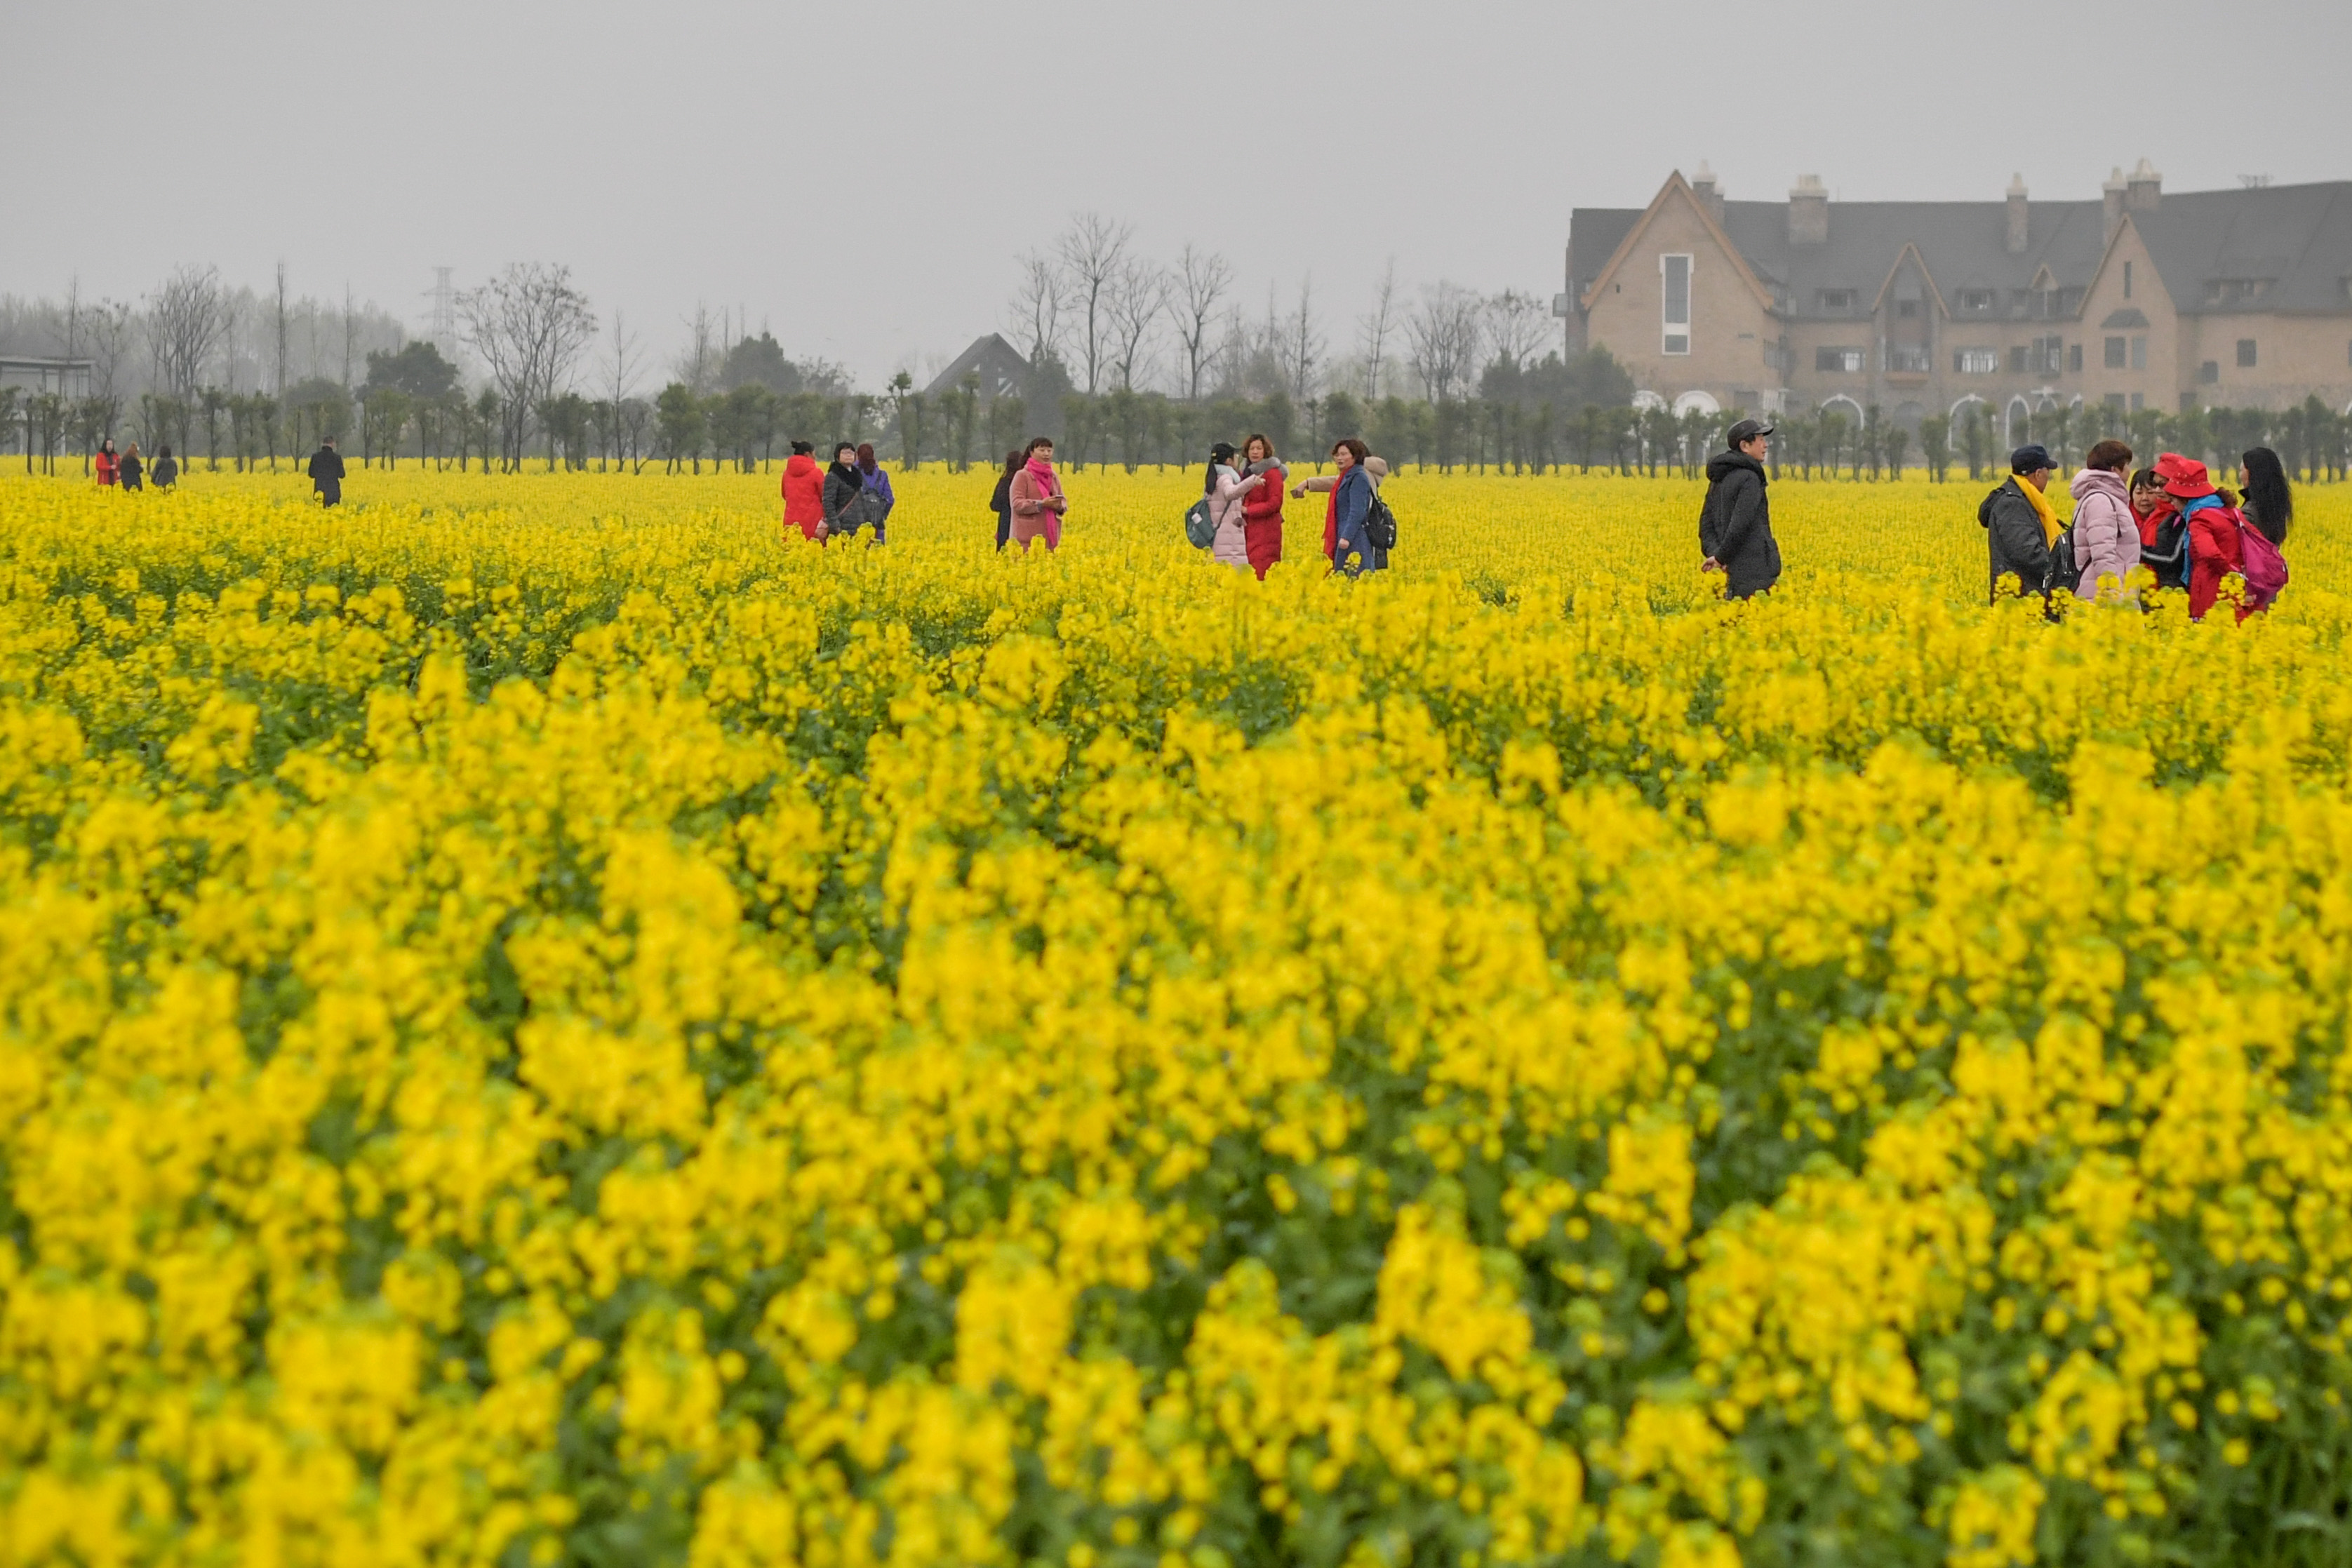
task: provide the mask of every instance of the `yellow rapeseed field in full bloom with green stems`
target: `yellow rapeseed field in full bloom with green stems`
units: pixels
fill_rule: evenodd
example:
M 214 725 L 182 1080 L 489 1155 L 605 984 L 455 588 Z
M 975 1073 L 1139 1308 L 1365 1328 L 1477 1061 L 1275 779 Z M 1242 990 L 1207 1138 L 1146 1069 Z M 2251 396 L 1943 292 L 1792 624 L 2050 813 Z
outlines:
M 2352 496 L 0 477 L 0 1563 L 2352 1559 Z

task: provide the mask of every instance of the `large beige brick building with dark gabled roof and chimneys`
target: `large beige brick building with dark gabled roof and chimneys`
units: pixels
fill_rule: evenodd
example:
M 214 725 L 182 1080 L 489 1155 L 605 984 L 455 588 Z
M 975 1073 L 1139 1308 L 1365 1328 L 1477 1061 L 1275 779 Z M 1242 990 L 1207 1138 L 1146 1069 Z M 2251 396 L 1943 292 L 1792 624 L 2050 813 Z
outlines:
M 2096 202 L 1729 202 L 1700 165 L 1569 221 L 1569 350 L 1677 407 L 1837 407 L 1917 428 L 2034 409 L 2352 404 L 2352 181 Z

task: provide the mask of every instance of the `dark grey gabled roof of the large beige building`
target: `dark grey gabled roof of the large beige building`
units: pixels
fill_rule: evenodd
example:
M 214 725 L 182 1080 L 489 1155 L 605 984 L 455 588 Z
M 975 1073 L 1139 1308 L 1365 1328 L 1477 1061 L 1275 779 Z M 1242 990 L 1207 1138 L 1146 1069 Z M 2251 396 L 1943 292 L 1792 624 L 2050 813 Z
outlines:
M 1573 212 L 1569 282 L 1578 301 L 1592 299 L 1602 277 L 1623 263 L 1642 223 L 1677 183 L 1679 174 L 1644 212 Z M 1682 190 L 1689 193 L 1689 186 Z M 2180 310 L 2352 310 L 2352 294 L 2345 292 L 2352 277 L 2352 181 L 2178 190 L 2126 221 L 2138 228 Z M 2020 294 L 2044 268 L 2060 289 L 2089 287 L 2107 252 L 2103 202 L 2030 202 L 2023 252 L 2009 249 L 2006 202 L 1830 202 L 1825 244 L 1788 242 L 1788 202 L 1724 202 L 1717 228 L 1750 275 L 1778 294 L 1785 320 L 1856 320 L 1858 310 L 1823 310 L 1823 289 L 1851 289 L 1856 301 L 1879 296 L 1905 249 L 1917 249 L 1938 301 L 1964 289 L 1992 289 L 2002 317 L 2020 308 Z M 2267 282 L 2251 301 L 2206 303 L 2216 280 Z

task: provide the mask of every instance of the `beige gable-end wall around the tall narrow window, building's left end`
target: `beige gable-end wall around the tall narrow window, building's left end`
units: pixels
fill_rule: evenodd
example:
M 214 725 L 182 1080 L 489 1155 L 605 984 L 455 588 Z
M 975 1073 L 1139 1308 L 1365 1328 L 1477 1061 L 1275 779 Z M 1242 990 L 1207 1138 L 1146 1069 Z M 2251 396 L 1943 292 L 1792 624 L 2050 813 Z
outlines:
M 1705 390 L 1731 407 L 1733 390 L 1780 386 L 1766 350 L 1780 329 L 1764 313 L 1740 263 L 1708 233 L 1698 205 L 1675 190 L 1635 237 L 1635 252 L 1602 280 L 1590 303 L 1588 334 L 1602 343 L 1644 393 L 1668 402 Z M 1663 353 L 1665 277 L 1658 256 L 1691 256 L 1691 353 Z

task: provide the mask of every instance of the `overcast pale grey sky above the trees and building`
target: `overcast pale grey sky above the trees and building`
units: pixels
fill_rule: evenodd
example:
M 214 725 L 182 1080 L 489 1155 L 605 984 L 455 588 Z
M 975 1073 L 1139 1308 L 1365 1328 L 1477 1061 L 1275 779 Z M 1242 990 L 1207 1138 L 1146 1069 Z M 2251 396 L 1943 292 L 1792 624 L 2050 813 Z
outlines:
M 875 383 L 997 324 L 1073 209 L 1221 249 L 1334 348 L 1399 277 L 1550 296 L 1571 207 L 2352 176 L 2343 0 L 0 0 L 0 292 L 181 261 L 405 315 L 564 261 L 656 357 L 696 299 Z

